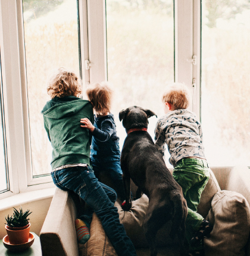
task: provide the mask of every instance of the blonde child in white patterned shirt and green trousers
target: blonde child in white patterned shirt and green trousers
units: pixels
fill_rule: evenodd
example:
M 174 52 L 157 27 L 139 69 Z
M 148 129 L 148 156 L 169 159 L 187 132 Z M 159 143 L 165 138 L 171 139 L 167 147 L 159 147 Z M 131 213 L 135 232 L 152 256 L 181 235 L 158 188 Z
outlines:
M 165 144 L 174 167 L 173 177 L 182 187 L 187 201 L 186 239 L 189 254 L 204 254 L 204 237 L 212 224 L 197 213 L 201 193 L 207 185 L 210 171 L 204 155 L 201 123 L 195 113 L 187 110 L 190 96 L 182 83 L 173 83 L 162 96 L 165 115 L 157 122 L 155 146 L 164 157 Z

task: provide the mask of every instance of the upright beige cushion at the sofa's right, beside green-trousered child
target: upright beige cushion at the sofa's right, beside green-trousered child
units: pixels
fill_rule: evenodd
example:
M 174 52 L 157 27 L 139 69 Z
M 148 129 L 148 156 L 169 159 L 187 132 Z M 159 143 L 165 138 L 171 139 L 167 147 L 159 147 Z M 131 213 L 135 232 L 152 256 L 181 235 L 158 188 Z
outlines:
M 208 221 L 214 224 L 214 229 L 210 238 L 204 240 L 206 256 L 245 256 L 250 208 L 243 195 L 233 191 L 217 192 Z

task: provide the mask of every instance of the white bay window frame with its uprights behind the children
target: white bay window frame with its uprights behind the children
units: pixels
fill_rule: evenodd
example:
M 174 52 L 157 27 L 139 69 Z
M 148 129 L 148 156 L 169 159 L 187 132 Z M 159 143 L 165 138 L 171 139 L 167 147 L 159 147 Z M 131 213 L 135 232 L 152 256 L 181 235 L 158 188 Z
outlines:
M 105 0 L 79 0 L 80 49 L 83 87 L 107 80 Z M 196 79 L 192 110 L 199 116 L 200 1 L 174 1 L 175 80 L 192 88 Z M 0 0 L 0 45 L 3 101 L 10 191 L 15 193 L 54 186 L 50 176 L 33 177 L 27 101 L 23 10 L 21 0 Z M 185 42 L 185 43 L 183 43 Z M 188 60 L 196 55 L 196 65 Z M 89 60 L 90 68 L 85 68 Z

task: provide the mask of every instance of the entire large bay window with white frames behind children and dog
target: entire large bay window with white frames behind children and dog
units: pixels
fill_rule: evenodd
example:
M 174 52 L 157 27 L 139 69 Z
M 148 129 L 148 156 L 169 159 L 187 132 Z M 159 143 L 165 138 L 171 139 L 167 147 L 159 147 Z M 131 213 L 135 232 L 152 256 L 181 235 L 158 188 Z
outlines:
M 82 78 L 83 98 L 89 83 L 112 84 L 121 148 L 119 111 L 137 105 L 160 118 L 165 86 L 186 83 L 210 166 L 250 166 L 250 4 L 224 2 L 0 0 L 0 198 L 54 186 L 40 111 L 60 67 Z

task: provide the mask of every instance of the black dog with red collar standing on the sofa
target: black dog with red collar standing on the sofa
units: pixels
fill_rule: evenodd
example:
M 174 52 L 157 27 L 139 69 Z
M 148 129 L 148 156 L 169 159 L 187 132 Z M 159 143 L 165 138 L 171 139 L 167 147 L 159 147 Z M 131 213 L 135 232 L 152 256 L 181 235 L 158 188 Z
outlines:
M 149 198 L 148 211 L 144 220 L 144 231 L 149 242 L 151 256 L 157 255 L 155 236 L 158 230 L 172 220 L 171 238 L 177 234 L 180 241 L 180 253 L 185 253 L 185 221 L 187 204 L 183 198 L 182 188 L 174 180 L 151 136 L 146 129 L 148 118 L 155 115 L 151 110 L 140 107 L 129 107 L 119 113 L 120 121 L 126 129 L 127 137 L 121 151 L 121 169 L 126 193 L 124 210 L 132 207 L 130 194 L 130 178 L 139 193 L 145 193 Z

